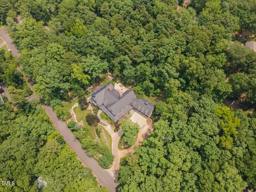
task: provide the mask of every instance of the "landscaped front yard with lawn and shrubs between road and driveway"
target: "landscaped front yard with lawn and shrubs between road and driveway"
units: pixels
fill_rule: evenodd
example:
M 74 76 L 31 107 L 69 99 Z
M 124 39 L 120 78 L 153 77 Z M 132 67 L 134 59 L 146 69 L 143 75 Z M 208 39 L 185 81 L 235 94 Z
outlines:
M 81 99 L 79 101 L 82 102 Z M 69 111 L 77 102 L 78 98 L 70 103 L 62 102 L 61 108 Z M 86 150 L 86 153 L 98 161 L 103 169 L 108 169 L 114 160 L 114 156 L 111 154 L 111 136 L 102 126 L 98 125 L 99 118 L 92 114 L 92 110 L 85 108 L 86 105 L 83 107 L 84 110 L 81 109 L 81 105 L 78 105 L 78 107 L 73 109 L 77 122 L 83 122 L 82 126 L 74 121 L 69 121 L 67 125 L 79 142 L 81 142 L 82 148 Z M 110 143 L 109 146 L 106 145 L 103 139 L 103 131 L 108 144 Z

